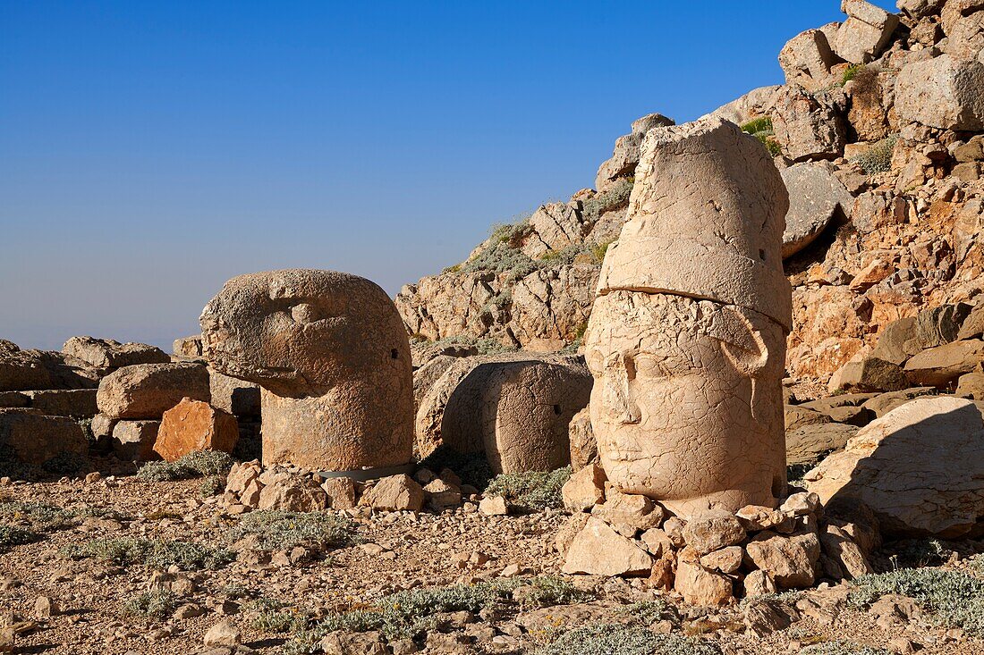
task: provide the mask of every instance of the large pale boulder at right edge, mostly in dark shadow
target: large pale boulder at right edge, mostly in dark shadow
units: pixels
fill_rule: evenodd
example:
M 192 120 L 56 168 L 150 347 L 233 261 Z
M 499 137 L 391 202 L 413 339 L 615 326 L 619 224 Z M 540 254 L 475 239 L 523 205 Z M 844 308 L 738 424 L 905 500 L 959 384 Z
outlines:
M 979 534 L 984 515 L 984 419 L 972 401 L 917 398 L 862 428 L 808 474 L 825 505 L 856 499 L 887 534 Z

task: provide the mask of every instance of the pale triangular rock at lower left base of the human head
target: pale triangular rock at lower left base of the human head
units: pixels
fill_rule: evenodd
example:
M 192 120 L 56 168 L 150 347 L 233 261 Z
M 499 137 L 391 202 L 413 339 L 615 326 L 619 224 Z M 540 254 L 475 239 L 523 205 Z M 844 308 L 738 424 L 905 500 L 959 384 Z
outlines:
M 648 575 L 652 556 L 604 521 L 591 517 L 571 542 L 561 568 L 565 573 Z

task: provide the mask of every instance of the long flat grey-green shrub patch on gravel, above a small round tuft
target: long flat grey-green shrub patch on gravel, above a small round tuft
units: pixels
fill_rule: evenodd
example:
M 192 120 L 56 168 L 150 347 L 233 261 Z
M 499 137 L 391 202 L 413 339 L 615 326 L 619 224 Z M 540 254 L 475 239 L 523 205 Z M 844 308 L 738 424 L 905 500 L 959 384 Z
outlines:
M 93 539 L 65 547 L 62 555 L 73 560 L 92 559 L 116 566 L 178 566 L 182 570 L 221 568 L 235 560 L 234 553 L 203 544 L 129 537 Z

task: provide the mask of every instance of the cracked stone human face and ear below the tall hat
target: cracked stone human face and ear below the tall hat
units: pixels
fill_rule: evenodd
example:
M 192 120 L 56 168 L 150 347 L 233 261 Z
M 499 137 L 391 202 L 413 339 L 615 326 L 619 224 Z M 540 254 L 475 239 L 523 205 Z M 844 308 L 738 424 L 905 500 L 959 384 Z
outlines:
M 784 347 L 782 328 L 752 310 L 636 291 L 597 298 L 584 354 L 608 479 L 684 516 L 774 505 Z

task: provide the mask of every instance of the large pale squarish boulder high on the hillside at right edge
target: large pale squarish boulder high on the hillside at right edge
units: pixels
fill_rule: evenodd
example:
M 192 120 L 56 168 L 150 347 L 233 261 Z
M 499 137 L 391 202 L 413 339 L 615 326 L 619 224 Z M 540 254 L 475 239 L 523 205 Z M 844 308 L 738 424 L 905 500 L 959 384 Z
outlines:
M 906 64 L 894 106 L 902 120 L 978 132 L 984 129 L 984 63 L 941 55 Z

